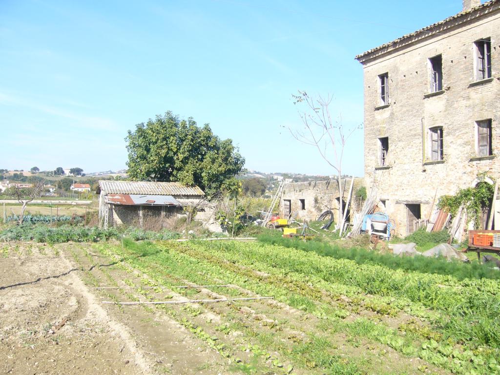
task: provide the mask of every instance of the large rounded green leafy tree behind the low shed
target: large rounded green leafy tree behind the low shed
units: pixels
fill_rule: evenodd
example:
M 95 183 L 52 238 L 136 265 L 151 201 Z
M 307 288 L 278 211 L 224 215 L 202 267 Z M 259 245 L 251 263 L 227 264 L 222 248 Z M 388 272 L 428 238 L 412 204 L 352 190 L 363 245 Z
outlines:
M 212 195 L 244 165 L 231 139 L 220 139 L 208 124 L 200 127 L 191 117 L 179 119 L 170 111 L 135 125 L 125 140 L 127 174 L 136 181 L 177 181 Z

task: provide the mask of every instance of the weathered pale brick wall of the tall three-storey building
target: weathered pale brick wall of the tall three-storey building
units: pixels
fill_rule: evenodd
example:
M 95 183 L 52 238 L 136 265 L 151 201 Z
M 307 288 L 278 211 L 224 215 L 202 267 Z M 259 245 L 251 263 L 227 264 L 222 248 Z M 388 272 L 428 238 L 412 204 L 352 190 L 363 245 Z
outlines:
M 464 1 L 464 6 L 470 2 Z M 474 5 L 477 1 L 472 1 Z M 491 73 L 482 79 L 477 76 L 476 48 L 488 40 Z M 431 86 L 436 68 L 429 59 L 436 55 L 441 55 L 442 64 L 439 87 Z M 365 184 L 370 188 L 375 179 L 379 198 L 396 223 L 396 234 L 412 231 L 409 220 L 416 210 L 428 218 L 435 195 L 437 202 L 441 195 L 474 185 L 479 172 L 498 176 L 500 1 L 464 8 L 356 58 L 364 73 Z M 384 73 L 388 73 L 386 103 L 380 92 Z M 491 149 L 478 157 L 481 120 L 489 121 Z M 440 152 L 433 148 L 438 143 L 432 138 L 438 128 L 442 157 L 432 157 L 432 152 Z M 384 137 L 388 151 L 382 165 Z

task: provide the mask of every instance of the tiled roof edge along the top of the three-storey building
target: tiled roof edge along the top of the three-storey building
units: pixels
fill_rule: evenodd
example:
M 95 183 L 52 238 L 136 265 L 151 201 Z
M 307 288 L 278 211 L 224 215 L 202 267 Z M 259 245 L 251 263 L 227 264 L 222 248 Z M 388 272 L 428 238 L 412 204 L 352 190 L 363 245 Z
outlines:
M 402 41 L 406 41 L 408 40 L 408 42 L 418 36 L 425 36 L 425 35 L 432 35 L 436 32 L 436 29 L 439 29 L 439 28 L 442 28 L 444 26 L 447 25 L 447 23 L 449 23 L 450 21 L 452 20 L 455 20 L 455 19 L 459 19 L 459 18 L 464 18 L 463 20 L 467 20 L 467 19 L 471 19 L 471 18 L 476 18 L 476 17 L 479 17 L 481 16 L 483 13 L 481 11 L 484 11 L 484 10 L 488 10 L 487 8 L 489 7 L 493 7 L 494 5 L 500 5 L 500 0 L 490 0 L 490 1 L 486 1 L 485 3 L 481 4 L 481 5 L 477 5 L 471 9 L 468 9 L 468 10 L 462 10 L 461 12 L 459 13 L 456 13 L 452 16 L 449 16 L 441 21 L 438 21 L 438 22 L 435 22 L 435 23 L 432 23 L 431 25 L 428 25 L 428 26 L 425 26 L 423 28 L 420 28 L 419 30 L 416 30 L 416 31 L 413 31 L 413 32 L 410 32 L 408 34 L 405 34 L 397 39 L 394 39 L 392 41 L 389 41 L 388 43 L 384 43 L 382 45 L 379 45 L 378 47 L 375 47 L 375 48 L 371 48 L 369 50 L 367 50 L 366 52 L 363 52 L 361 54 L 358 54 L 355 56 L 355 59 L 360 61 L 361 60 L 365 60 L 367 58 L 367 56 L 371 55 L 372 53 L 376 52 L 376 51 L 380 51 L 381 49 L 384 49 L 384 48 L 387 48 L 387 47 L 390 47 L 390 46 L 394 46 L 396 45 L 397 43 L 400 43 Z M 490 9 L 491 10 L 491 9 Z M 469 16 L 467 18 L 467 16 Z M 454 25 L 454 24 L 453 24 Z M 452 25 L 449 24 L 449 27 L 451 27 Z

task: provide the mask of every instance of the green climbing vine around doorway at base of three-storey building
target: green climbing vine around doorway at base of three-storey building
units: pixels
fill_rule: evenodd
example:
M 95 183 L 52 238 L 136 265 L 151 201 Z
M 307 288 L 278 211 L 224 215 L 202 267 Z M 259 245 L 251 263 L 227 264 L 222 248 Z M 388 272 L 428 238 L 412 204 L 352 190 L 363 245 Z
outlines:
M 455 195 L 442 195 L 437 207 L 447 210 L 451 216 L 455 216 L 458 208 L 463 205 L 467 212 L 467 223 L 474 220 L 474 226 L 479 228 L 481 209 L 488 207 L 493 198 L 493 185 L 484 181 L 484 174 L 478 175 L 482 179 L 475 187 L 460 189 Z

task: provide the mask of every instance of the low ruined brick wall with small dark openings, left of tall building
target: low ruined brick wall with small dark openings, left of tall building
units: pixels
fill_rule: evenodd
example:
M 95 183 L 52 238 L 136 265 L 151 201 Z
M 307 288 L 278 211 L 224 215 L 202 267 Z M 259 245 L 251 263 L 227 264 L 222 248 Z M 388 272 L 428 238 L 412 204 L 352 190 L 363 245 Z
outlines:
M 346 202 L 349 195 L 350 178 L 342 179 L 343 201 Z M 355 192 L 361 186 L 364 186 L 364 179 L 354 178 L 351 201 L 348 211 L 357 212 L 358 202 L 355 198 Z M 338 222 L 338 183 L 335 179 L 323 181 L 308 182 L 290 182 L 283 186 L 283 193 L 279 203 L 279 216 L 287 217 L 290 205 L 290 214 L 297 220 L 315 220 L 322 212 L 327 209 L 333 211 L 334 221 Z M 344 205 L 345 206 L 345 205 Z M 347 220 L 348 221 L 348 220 Z

